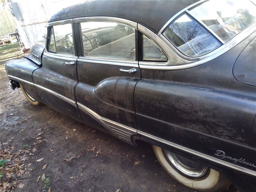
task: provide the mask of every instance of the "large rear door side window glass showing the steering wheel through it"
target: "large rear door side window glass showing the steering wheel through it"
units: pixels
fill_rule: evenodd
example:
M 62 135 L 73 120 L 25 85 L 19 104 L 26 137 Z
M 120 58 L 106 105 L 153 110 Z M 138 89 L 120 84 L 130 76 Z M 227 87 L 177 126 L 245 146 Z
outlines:
M 114 22 L 81 23 L 84 56 L 135 60 L 135 29 Z

